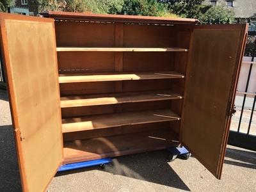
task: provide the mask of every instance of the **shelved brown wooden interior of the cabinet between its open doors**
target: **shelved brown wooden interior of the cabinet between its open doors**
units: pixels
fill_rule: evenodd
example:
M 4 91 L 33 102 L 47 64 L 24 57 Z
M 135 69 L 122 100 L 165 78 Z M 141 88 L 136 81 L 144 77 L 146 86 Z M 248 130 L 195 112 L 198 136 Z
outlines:
M 179 145 L 191 28 L 55 21 L 65 163 Z

